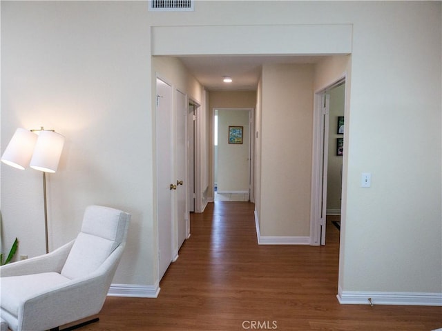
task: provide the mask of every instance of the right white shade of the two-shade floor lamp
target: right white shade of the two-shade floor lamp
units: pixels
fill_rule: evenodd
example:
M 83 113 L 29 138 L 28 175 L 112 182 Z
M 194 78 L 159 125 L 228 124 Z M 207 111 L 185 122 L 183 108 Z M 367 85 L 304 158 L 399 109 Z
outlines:
M 61 134 L 41 130 L 30 160 L 30 168 L 44 172 L 56 172 L 63 145 L 64 137 Z

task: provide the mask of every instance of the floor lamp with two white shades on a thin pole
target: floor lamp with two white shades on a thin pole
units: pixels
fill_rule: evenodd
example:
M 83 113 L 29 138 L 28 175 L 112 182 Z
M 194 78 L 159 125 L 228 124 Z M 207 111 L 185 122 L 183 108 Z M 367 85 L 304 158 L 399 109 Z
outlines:
M 44 225 L 46 235 L 46 253 L 48 245 L 48 208 L 46 198 L 46 172 L 56 172 L 63 150 L 64 137 L 54 130 L 26 130 L 18 128 L 12 136 L 1 161 L 14 168 L 30 168 L 43 172 Z

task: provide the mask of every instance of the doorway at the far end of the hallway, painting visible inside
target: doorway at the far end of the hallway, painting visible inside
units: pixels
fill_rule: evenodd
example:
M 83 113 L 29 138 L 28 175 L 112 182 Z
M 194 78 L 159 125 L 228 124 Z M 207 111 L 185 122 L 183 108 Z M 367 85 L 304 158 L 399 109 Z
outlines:
M 253 109 L 213 109 L 215 201 L 253 200 Z

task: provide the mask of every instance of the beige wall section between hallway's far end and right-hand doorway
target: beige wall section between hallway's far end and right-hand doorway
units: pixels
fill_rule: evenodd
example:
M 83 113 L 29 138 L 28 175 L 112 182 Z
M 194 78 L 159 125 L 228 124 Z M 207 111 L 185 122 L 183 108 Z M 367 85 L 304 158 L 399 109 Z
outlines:
M 260 234 L 309 236 L 312 65 L 262 68 Z

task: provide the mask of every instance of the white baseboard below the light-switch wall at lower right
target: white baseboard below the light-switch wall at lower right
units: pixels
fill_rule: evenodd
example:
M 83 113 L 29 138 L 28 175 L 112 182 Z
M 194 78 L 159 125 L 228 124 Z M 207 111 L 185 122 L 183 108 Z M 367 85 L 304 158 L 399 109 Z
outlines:
M 419 292 L 356 292 L 338 291 L 339 303 L 343 305 L 436 305 L 442 306 L 442 293 Z

